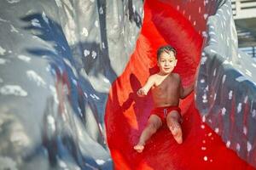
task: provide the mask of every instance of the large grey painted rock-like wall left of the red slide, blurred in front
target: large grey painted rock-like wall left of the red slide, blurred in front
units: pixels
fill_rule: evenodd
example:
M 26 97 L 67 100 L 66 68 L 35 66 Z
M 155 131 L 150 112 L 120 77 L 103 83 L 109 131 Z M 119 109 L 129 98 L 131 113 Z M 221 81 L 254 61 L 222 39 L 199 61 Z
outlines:
M 142 1 L 1 0 L 0 169 L 113 168 L 105 103 L 142 18 Z

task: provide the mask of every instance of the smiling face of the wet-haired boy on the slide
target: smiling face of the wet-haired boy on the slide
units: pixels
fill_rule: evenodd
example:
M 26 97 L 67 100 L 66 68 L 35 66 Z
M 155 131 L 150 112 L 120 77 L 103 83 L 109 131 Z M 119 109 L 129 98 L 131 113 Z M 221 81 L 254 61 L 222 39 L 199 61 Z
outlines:
M 160 72 L 163 74 L 171 73 L 177 64 L 177 59 L 175 58 L 174 53 L 172 51 L 168 53 L 163 52 L 162 54 L 160 54 L 160 57 L 157 61 Z

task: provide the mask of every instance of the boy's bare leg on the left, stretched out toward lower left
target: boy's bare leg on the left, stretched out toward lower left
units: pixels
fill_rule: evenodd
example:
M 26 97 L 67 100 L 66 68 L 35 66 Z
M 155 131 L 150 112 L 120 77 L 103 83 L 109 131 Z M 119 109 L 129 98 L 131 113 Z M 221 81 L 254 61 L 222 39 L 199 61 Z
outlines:
M 146 141 L 160 128 L 162 125 L 159 116 L 149 116 L 147 126 L 143 129 L 143 133 L 140 136 L 138 143 L 133 147 L 137 152 L 143 152 Z

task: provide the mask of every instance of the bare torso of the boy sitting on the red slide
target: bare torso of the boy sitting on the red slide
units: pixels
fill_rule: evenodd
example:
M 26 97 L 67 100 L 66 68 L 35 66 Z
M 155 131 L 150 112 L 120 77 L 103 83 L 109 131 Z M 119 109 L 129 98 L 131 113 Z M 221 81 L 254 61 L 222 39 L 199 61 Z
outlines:
M 176 73 L 167 77 L 155 75 L 154 86 L 151 88 L 154 106 L 177 106 L 180 96 L 180 78 Z

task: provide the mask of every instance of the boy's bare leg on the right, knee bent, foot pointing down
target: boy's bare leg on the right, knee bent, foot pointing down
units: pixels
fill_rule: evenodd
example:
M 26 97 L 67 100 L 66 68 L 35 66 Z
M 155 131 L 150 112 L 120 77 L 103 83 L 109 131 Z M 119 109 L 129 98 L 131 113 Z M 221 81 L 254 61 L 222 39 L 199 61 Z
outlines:
M 166 116 L 167 126 L 172 132 L 173 138 L 177 141 L 177 144 L 183 143 L 183 131 L 180 125 L 181 116 L 177 111 L 170 111 Z

